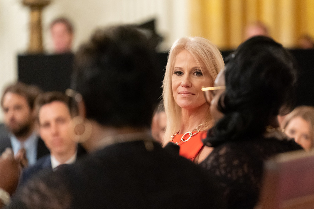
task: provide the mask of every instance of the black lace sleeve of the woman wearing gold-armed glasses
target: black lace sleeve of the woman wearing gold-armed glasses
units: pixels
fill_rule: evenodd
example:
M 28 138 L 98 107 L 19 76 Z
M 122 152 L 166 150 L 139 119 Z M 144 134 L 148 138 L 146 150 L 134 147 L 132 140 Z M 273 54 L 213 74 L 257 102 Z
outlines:
M 228 207 L 252 208 L 257 201 L 263 161 L 252 158 L 241 146 L 224 144 L 200 164 L 216 178 Z

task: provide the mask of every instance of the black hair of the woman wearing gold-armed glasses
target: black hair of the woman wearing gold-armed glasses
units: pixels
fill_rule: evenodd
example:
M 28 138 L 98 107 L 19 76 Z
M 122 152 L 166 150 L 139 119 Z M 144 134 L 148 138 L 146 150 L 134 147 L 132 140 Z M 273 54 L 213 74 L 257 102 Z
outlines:
M 293 57 L 273 39 L 256 36 L 229 55 L 226 90 L 219 110 L 224 117 L 214 131 L 236 140 L 262 134 L 278 114 L 294 107 L 296 70 Z

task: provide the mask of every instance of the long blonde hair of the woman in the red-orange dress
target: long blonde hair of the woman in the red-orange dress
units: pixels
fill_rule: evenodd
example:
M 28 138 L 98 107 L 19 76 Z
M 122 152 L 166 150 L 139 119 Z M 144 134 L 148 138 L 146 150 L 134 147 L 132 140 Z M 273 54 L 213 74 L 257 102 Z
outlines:
M 204 68 L 204 73 L 209 74 L 212 78 L 212 82 L 208 83 L 208 86 L 214 85 L 214 80 L 218 72 L 225 66 L 219 49 L 207 39 L 201 37 L 184 37 L 177 39 L 172 45 L 169 51 L 165 77 L 162 84 L 162 96 L 164 100 L 165 113 L 167 115 L 167 127 L 165 130 L 163 144 L 166 144 L 170 140 L 171 135 L 178 131 L 180 127 L 181 107 L 176 104 L 173 97 L 172 74 L 176 55 L 178 55 L 182 50 L 187 50 L 191 53 L 198 65 Z M 204 123 L 209 122 L 211 118 L 210 112 L 206 112 L 206 114 L 207 118 Z

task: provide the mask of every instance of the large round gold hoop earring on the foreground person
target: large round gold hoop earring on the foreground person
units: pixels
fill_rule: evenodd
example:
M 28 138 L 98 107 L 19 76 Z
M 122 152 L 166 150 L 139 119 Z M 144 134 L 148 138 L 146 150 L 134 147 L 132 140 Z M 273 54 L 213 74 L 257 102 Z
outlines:
M 92 124 L 88 119 L 76 116 L 69 122 L 68 133 L 75 142 L 85 142 L 92 134 Z

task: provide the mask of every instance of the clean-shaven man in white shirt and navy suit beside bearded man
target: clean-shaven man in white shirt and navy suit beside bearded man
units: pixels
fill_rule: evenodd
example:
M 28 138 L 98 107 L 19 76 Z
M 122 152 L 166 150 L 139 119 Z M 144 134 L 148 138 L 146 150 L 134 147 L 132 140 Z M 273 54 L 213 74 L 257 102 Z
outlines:
M 46 92 L 38 96 L 35 106 L 39 132 L 50 154 L 24 170 L 21 184 L 40 170 L 55 170 L 59 165 L 72 164 L 85 154 L 85 150 L 68 134 L 68 124 L 77 115 L 77 108 L 72 107 L 70 97 L 62 92 Z

